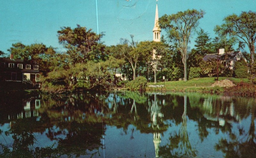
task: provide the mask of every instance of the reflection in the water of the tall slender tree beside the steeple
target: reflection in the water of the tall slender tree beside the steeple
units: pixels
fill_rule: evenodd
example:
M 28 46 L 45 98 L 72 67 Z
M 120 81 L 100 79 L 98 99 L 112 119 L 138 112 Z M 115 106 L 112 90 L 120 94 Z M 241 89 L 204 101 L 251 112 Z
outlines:
M 170 144 L 160 147 L 161 154 L 172 157 L 195 157 L 196 150 L 191 147 L 187 130 L 187 95 L 184 95 L 184 112 L 179 133 L 170 135 Z

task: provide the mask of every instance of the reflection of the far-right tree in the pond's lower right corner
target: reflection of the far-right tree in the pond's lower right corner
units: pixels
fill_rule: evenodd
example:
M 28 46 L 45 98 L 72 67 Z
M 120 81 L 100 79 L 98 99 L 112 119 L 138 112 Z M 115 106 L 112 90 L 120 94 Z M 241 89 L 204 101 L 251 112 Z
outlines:
M 243 128 L 238 128 L 239 135 L 235 133 L 229 134 L 229 139 L 221 138 L 219 144 L 215 145 L 216 150 L 221 150 L 225 153 L 226 158 L 233 157 L 255 157 L 256 151 L 256 133 L 255 133 L 255 115 L 256 105 L 251 106 L 251 124 L 248 134 L 245 133 Z

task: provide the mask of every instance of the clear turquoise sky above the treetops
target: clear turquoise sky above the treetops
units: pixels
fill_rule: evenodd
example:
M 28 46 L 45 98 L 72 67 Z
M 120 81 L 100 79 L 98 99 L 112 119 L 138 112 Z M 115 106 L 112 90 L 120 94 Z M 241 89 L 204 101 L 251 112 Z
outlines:
M 216 25 L 223 18 L 242 11 L 256 11 L 256 0 L 158 0 L 159 18 L 178 11 L 196 9 L 205 11 L 199 20 L 199 28 L 211 38 Z M 99 33 L 107 46 L 116 45 L 120 38 L 136 41 L 153 40 L 156 0 L 97 0 Z M 97 33 L 96 0 L 0 0 L 0 50 L 13 43 L 25 45 L 43 43 L 64 51 L 58 42 L 57 31 L 63 26 L 76 25 L 92 28 Z M 165 34 L 164 30 L 161 33 Z M 192 34 L 189 47 L 195 45 L 196 33 Z

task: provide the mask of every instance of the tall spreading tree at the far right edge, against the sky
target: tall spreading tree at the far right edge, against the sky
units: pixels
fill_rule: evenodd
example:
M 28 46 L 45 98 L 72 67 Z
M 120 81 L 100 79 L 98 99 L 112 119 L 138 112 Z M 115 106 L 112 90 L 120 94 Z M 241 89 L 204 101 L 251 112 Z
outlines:
M 216 26 L 230 36 L 238 37 L 250 50 L 252 64 L 254 63 L 255 40 L 256 40 L 256 12 L 243 11 L 239 16 L 232 14 L 224 18 L 225 23 Z

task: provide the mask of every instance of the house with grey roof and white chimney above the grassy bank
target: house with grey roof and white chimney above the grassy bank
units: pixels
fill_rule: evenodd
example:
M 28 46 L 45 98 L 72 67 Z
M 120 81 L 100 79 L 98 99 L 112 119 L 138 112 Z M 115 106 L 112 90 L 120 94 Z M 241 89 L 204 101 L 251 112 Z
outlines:
M 212 60 L 217 60 L 218 56 L 220 64 L 229 69 L 233 69 L 235 67 L 236 61 L 244 60 L 245 62 L 247 62 L 244 55 L 240 51 L 225 52 L 225 49 L 219 49 L 219 55 L 218 53 L 206 54 L 203 60 L 210 62 Z

